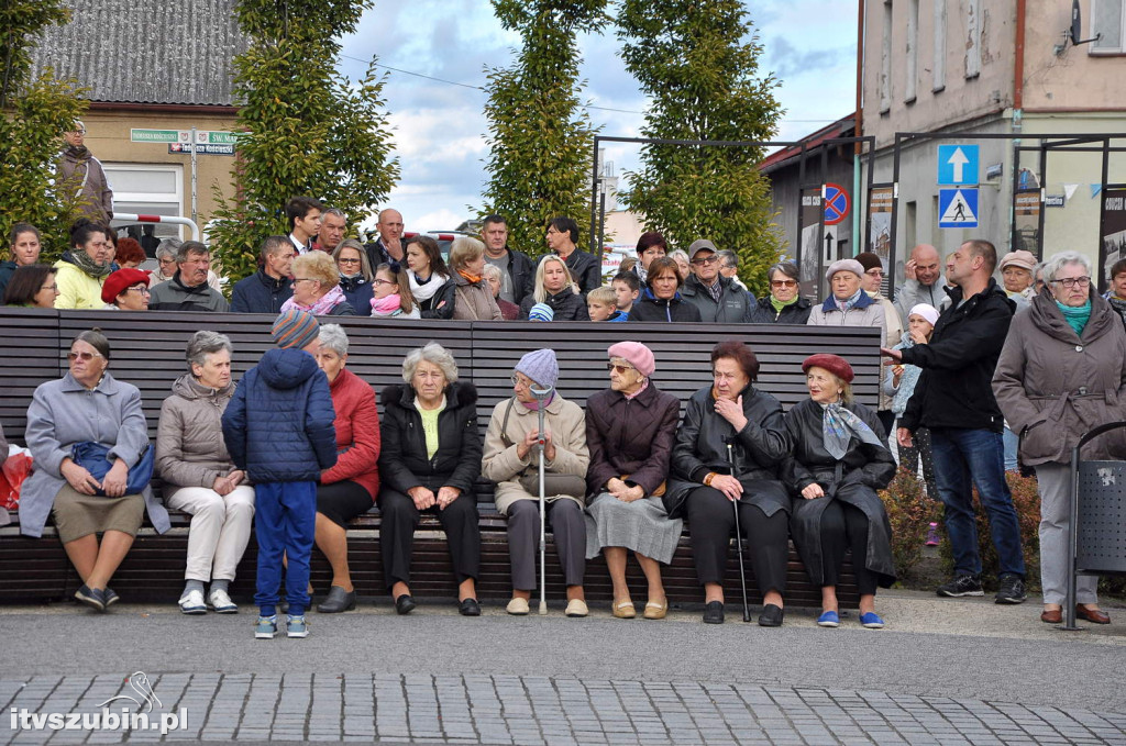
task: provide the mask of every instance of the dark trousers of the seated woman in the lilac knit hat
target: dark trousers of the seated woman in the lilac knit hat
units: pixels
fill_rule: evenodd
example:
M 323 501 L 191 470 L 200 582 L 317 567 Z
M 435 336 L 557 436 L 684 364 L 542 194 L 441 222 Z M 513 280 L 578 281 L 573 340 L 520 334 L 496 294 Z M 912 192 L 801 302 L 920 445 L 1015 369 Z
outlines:
M 547 503 L 547 524 L 555 536 L 555 554 L 568 585 L 582 585 L 587 572 L 587 523 L 582 506 L 560 497 Z M 512 588 L 535 591 L 539 554 L 539 501 L 518 500 L 508 509 L 508 556 Z

